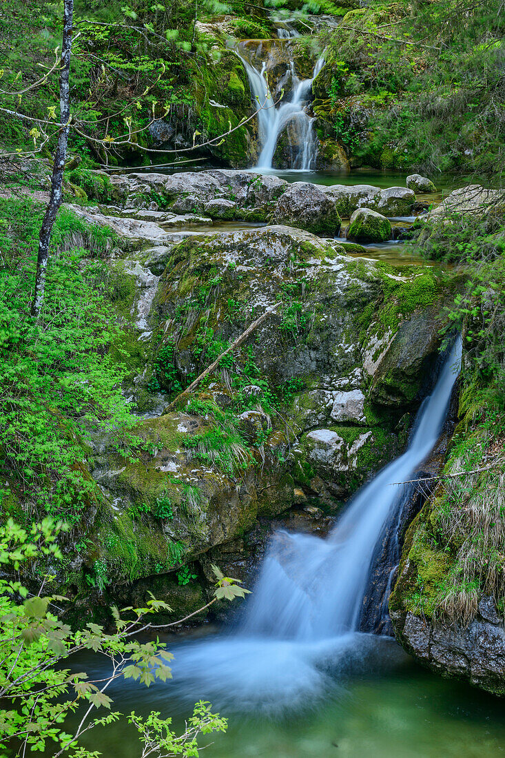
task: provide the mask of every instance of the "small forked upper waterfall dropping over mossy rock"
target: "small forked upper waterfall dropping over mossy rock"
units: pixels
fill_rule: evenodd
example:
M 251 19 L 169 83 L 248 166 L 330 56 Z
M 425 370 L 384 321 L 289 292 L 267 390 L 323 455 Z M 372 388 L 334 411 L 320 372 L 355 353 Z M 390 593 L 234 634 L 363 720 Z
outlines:
M 284 34 L 287 30 L 278 31 Z M 235 52 L 246 69 L 252 98 L 258 111 L 260 152 L 254 168 L 258 171 L 270 171 L 274 168 L 274 152 L 278 139 L 286 130 L 291 154 L 291 164 L 286 168 L 311 171 L 315 168 L 317 139 L 312 129 L 313 119 L 307 114 L 306 106 L 309 104 L 312 82 L 322 69 L 324 58 L 321 57 L 316 62 L 312 77 L 303 80 L 296 76 L 293 61 L 290 61 L 287 73 L 290 72 L 293 84 L 287 96 L 275 106 L 265 74 L 265 61 L 255 67 L 240 52 Z

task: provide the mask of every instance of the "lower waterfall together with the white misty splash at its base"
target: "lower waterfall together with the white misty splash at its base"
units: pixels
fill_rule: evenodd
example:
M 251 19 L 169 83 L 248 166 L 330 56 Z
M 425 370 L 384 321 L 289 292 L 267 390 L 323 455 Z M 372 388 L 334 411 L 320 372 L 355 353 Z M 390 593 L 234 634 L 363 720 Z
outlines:
M 386 525 L 397 522 L 402 490 L 395 485 L 412 479 L 438 439 L 461 350 L 458 339 L 406 452 L 359 490 L 331 534 L 274 535 L 240 625 L 177 650 L 177 687 L 187 697 L 208 697 L 219 707 L 237 700 L 293 708 L 323 694 L 350 661 L 368 654 L 377 638 L 357 630 L 372 556 Z

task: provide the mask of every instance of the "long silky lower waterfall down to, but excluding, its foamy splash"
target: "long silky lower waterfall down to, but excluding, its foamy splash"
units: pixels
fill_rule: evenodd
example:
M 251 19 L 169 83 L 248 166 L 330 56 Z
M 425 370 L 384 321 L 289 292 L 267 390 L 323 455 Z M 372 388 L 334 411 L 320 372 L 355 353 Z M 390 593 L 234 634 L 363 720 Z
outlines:
M 359 490 L 326 540 L 286 532 L 274 537 L 242 634 L 314 640 L 356 631 L 375 545 L 402 496 L 395 483 L 411 480 L 434 447 L 460 360 L 458 340 L 419 410 L 406 452 Z

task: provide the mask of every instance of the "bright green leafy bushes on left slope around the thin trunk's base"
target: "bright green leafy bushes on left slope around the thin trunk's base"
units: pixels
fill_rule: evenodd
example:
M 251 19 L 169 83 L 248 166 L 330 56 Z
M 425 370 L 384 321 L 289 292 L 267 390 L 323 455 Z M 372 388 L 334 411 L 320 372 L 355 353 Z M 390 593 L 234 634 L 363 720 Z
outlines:
M 29 312 L 41 217 L 29 199 L 0 199 L 0 471 L 32 512 L 76 522 L 99 496 L 83 465 L 90 435 L 111 431 L 118 452 L 131 456 L 136 420 L 120 390 L 125 367 L 108 354 L 121 333 L 96 256 L 109 238 L 62 209 L 36 322 Z M 87 250 L 72 246 L 77 237 Z

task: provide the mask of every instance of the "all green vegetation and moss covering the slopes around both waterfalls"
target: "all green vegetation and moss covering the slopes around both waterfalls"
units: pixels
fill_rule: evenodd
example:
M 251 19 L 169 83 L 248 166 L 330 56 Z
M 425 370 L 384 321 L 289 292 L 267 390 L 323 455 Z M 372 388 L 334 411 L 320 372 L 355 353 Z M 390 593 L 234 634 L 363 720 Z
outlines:
M 177 0 L 170 5 L 163 0 L 132 0 L 129 5 L 76 0 L 71 68 L 74 123 L 65 198 L 83 204 L 114 199 L 111 181 L 93 171 L 100 164 L 158 164 L 174 156 L 187 157 L 188 151 L 188 161 L 249 164 L 256 126 L 252 119 L 242 122 L 252 116 L 253 108 L 245 70 L 227 48 L 227 40 L 268 39 L 275 33 L 275 17 L 289 18 L 299 31 L 293 49 L 300 58 L 326 50 L 327 64 L 313 85 L 315 128 L 322 140 L 343 149 L 352 166 L 479 174 L 489 184 L 500 184 L 505 158 L 505 57 L 503 14 L 497 12 L 494 0 L 476 4 L 374 0 L 364 8 L 357 5 L 354 0 L 338 5 L 326 0 L 318 5 L 296 0 L 255 4 Z M 319 26 L 315 16 L 322 12 L 341 18 L 340 25 Z M 177 587 L 192 584 L 199 578 L 199 568 L 187 560 L 196 562 L 195 556 L 204 550 L 208 525 L 202 503 L 205 498 L 209 503 L 215 492 L 209 494 L 193 479 L 172 476 L 169 472 L 174 468 L 158 465 L 158 452 L 162 450 L 168 459 L 182 449 L 188 469 L 208 467 L 212 485 L 224 491 L 219 525 L 227 527 L 232 498 L 239 502 L 241 487 L 247 489 L 245 472 L 253 471 L 265 481 L 271 474 L 265 469 L 275 470 L 280 480 L 286 473 L 282 465 L 296 437 L 290 425 L 296 429 L 296 421 L 284 414 L 295 396 L 305 390 L 308 395 L 311 387 L 301 376 L 265 378 L 255 349 L 244 345 L 240 355 L 221 360 L 215 393 L 210 390 L 216 377 L 209 377 L 200 386 L 199 396 L 185 407 L 187 415 L 196 419 L 191 434 L 181 431 L 174 419 L 163 418 L 159 424 L 158 418 L 141 419 L 142 392 L 149 402 L 155 397 L 165 407 L 165 400 L 174 399 L 217 359 L 252 319 L 250 290 L 245 285 L 238 299 L 246 276 L 235 270 L 233 261 L 219 276 L 213 265 L 196 274 L 190 271 L 186 279 L 174 279 L 180 290 L 187 289 L 178 293 L 180 302 L 173 308 L 177 287 L 171 290 L 170 276 L 165 275 L 163 296 L 171 300 L 167 304 L 158 292 L 154 306 L 158 321 L 151 324 L 149 334 L 154 337 L 146 346 L 138 334 L 132 337 L 137 283 L 124 262 L 126 252 L 132 250 L 108 227 L 86 224 L 66 207 L 60 209 L 52 230 L 42 310 L 36 319 L 30 314 L 44 211 L 40 196 L 34 199 L 30 190 L 47 189 L 48 164 L 58 133 L 54 50 L 60 38 L 61 4 L 41 0 L 33 8 L 22 0 L 3 3 L 0 697 L 9 702 L 0 710 L 0 731 L 7 735 L 2 738 L 5 742 L 15 742 L 15 754 L 25 748 L 42 750 L 52 740 L 60 752 L 72 750 L 76 758 L 89 758 L 96 753 L 77 746 L 74 732 L 65 731 L 65 719 L 83 703 L 86 709 L 109 708 L 111 703 L 102 685 L 62 669 L 61 662 L 76 650 L 100 650 L 120 661 L 114 676 L 149 684 L 155 666 L 158 676 L 166 678 L 169 671 L 160 658 L 163 646 L 132 642 L 127 635 L 136 631 L 144 615 L 171 609 L 152 599 L 146 607 L 129 607 L 128 621 L 114 609 L 108 615 L 114 625 L 111 634 L 93 622 L 75 631 L 50 610 L 52 603 L 66 603 L 67 597 L 45 597 L 42 587 L 55 575 L 61 578 L 61 572 L 66 574 L 69 597 L 84 590 L 102 598 L 114 579 L 127 583 L 172 574 Z M 44 70 L 49 70 L 47 77 Z M 223 134 L 227 134 L 224 139 L 216 139 Z M 212 139 L 215 142 L 209 145 Z M 45 162 L 23 162 L 27 154 Z M 166 209 L 168 199 L 158 199 L 162 201 L 158 205 Z M 154 195 L 143 198 L 144 208 L 151 201 L 155 202 Z M 460 422 L 443 476 L 409 530 L 408 591 L 401 597 L 397 592 L 392 601 L 393 606 L 403 604 L 430 622 L 469 622 L 483 594 L 494 597 L 499 611 L 505 611 L 503 221 L 503 203 L 497 202 L 485 216 L 454 215 L 415 225 L 412 252 L 447 264 L 448 270 L 438 277 L 427 269 L 413 280 L 408 278 L 409 271 L 399 283 L 400 277 L 390 276 L 389 267 L 378 265 L 382 284 L 375 293 L 377 300 L 366 294 L 366 287 L 374 283 L 365 265 L 349 265 L 348 273 L 356 275 L 356 291 L 354 295 L 348 291 L 346 305 L 350 310 L 361 309 L 356 319 L 360 342 L 379 306 L 376 336 L 394 335 L 404 316 L 431 308 L 454 270 L 458 282 L 466 282 L 447 307 L 442 330 L 444 344 L 453 339 L 455 330 L 463 335 Z M 387 230 L 386 238 L 391 233 L 389 221 Z M 180 260 L 201 255 L 198 243 L 191 252 L 192 240 L 178 247 Z M 276 295 L 278 332 L 284 340 L 279 344 L 291 352 L 306 346 L 316 318 L 320 322 L 326 318 L 325 313 L 316 315 L 306 308 L 309 284 L 304 271 L 312 254 L 322 255 L 321 250 L 309 248 L 305 258 L 293 254 L 286 266 L 293 280 L 283 282 Z M 175 271 L 177 260 L 171 261 Z M 455 289 L 447 287 L 447 293 L 453 295 Z M 226 293 L 223 307 L 218 302 L 220 291 Z M 360 300 L 364 291 L 367 304 Z M 221 316 L 229 329 L 221 328 Z M 174 334 L 168 330 L 168 321 Z M 180 360 L 183 350 L 186 365 Z M 144 384 L 135 384 L 133 375 L 135 379 L 141 376 Z M 399 418 L 395 409 L 385 424 L 367 404 L 363 412 L 368 418 L 360 420 L 361 426 L 351 427 L 344 419 L 334 429 L 353 443 L 362 436 L 365 424 L 372 424 L 376 446 L 390 451 L 387 444 L 393 450 L 393 426 L 398 438 L 406 437 L 400 415 L 405 421 L 412 409 L 409 406 L 405 413 L 402 409 Z M 301 406 L 296 409 L 300 415 L 305 412 L 309 411 Z M 377 455 L 372 443 L 368 444 L 361 456 L 362 460 L 368 456 L 372 470 L 372 453 L 374 465 Z M 102 459 L 101 446 L 106 449 Z M 303 451 L 298 454 L 302 456 Z M 104 493 L 92 477 L 93 467 L 105 469 L 105 463 L 124 474 L 121 484 L 130 496 L 130 506 L 121 518 L 112 513 L 119 510 L 114 503 L 108 503 L 106 511 Z M 296 481 L 286 475 L 281 481 L 282 496 L 288 492 L 291 499 L 297 496 L 305 502 L 306 494 L 298 487 L 293 490 L 293 484 L 307 484 L 309 491 L 316 477 L 303 462 L 300 471 L 303 479 L 300 474 Z M 342 482 L 340 490 L 347 493 L 343 475 Z M 358 484 L 353 479 L 353 487 Z M 254 497 L 259 500 L 257 494 Z M 249 510 L 244 506 L 237 516 L 233 537 L 242 540 L 252 525 L 258 503 L 253 506 Z M 276 513 L 272 509 L 269 515 Z M 187 542 L 173 529 L 179 516 L 186 525 L 190 522 Z M 188 559 L 191 540 L 194 553 Z M 70 568 L 71 558 L 78 568 Z M 215 567 L 211 577 L 212 570 L 217 582 L 205 576 L 208 585 L 215 585 L 212 603 L 214 597 L 243 596 L 245 590 L 235 580 Z M 17 581 L 15 572 L 24 581 Z M 198 600 L 208 597 L 198 596 Z M 71 621 L 83 626 L 78 613 Z M 90 713 L 94 716 L 94 711 Z M 90 716 L 90 723 L 100 726 L 118 717 L 111 714 L 94 721 Z M 182 736 L 174 734 L 169 719 L 163 721 L 156 713 L 149 721 L 135 714 L 128 719 L 149 754 L 155 755 L 162 749 L 168 755 L 198 755 L 197 732 L 226 726 L 211 713 L 208 703 L 197 706 Z

